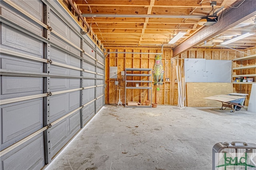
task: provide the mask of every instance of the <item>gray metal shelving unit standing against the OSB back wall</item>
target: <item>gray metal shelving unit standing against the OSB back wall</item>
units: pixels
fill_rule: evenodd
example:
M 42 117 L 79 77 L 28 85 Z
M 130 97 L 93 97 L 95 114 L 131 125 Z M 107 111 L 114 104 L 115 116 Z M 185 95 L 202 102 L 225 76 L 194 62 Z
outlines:
M 152 104 L 152 69 L 142 69 L 142 68 L 126 68 L 125 69 L 125 92 L 124 92 L 124 105 L 125 107 L 151 107 Z M 132 80 L 127 80 L 127 77 L 132 77 Z M 134 77 L 140 77 L 140 80 L 134 80 Z M 142 77 L 146 80 L 141 80 Z M 145 78 L 146 77 L 146 78 Z M 128 86 L 129 83 L 129 86 Z M 134 83 L 138 83 L 139 86 L 136 87 Z M 132 84 L 132 85 L 131 85 Z M 143 86 L 142 86 L 143 84 Z M 126 89 L 147 89 L 148 90 L 148 100 L 150 100 L 149 105 L 138 105 L 130 106 L 126 103 Z M 142 103 L 142 101 L 138 101 Z M 144 101 L 143 101 L 144 102 Z

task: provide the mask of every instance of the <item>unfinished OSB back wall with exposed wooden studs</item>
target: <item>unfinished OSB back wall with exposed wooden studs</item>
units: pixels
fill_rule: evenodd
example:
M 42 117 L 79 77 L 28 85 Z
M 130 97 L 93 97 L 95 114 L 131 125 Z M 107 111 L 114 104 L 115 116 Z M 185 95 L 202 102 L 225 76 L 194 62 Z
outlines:
M 116 47 L 107 49 L 107 51 L 118 51 L 118 52 L 141 52 L 141 53 L 161 53 L 160 48 L 154 47 Z M 248 49 L 243 51 L 249 54 L 255 54 L 256 48 Z M 162 54 L 162 63 L 164 65 L 164 83 L 159 85 L 159 91 L 156 90 L 156 86 L 152 86 L 152 102 L 158 103 L 160 105 L 177 105 L 178 104 L 178 83 L 175 82 L 176 68 L 178 64 L 181 68 L 181 75 L 183 75 L 184 59 L 186 58 L 202 58 L 202 59 L 217 59 L 217 60 L 232 60 L 237 57 L 244 57 L 246 54 L 239 51 L 234 51 L 232 49 L 208 49 L 208 48 L 195 48 L 185 51 L 179 56 L 172 57 L 172 50 L 164 48 Z M 106 104 L 117 104 L 118 102 L 118 91 L 116 89 L 122 89 L 120 91 L 121 101 L 124 103 L 124 81 L 121 76 L 121 71 L 125 68 L 153 68 L 154 65 L 154 54 L 131 54 L 131 53 L 119 53 L 110 54 L 106 56 L 106 88 L 105 88 L 105 103 Z M 240 67 L 241 65 L 255 65 L 256 59 L 251 59 L 249 61 L 235 62 L 233 67 Z M 118 82 L 119 85 L 115 86 L 115 79 L 109 79 L 109 67 L 118 67 Z M 236 74 L 256 74 L 256 69 L 243 69 L 241 72 L 239 70 L 233 71 Z M 169 78 L 170 81 L 166 81 Z M 256 77 L 255 77 L 256 78 Z M 236 93 L 247 93 L 248 98 L 245 100 L 244 105 L 248 106 L 248 99 L 250 97 L 250 84 L 234 84 L 234 92 Z M 126 94 L 130 101 L 144 102 L 148 97 L 148 93 L 145 90 L 130 90 Z M 187 102 L 188 99 L 187 99 Z M 210 102 L 210 101 L 209 101 Z M 217 102 L 220 104 L 220 102 Z

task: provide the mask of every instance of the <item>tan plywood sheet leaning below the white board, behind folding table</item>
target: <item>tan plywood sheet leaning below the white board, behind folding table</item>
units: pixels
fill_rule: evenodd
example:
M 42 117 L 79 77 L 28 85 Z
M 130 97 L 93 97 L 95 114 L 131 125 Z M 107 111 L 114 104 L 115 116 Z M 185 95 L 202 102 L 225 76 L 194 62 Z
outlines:
M 188 107 L 221 107 L 221 102 L 204 97 L 233 93 L 233 85 L 232 83 L 186 83 L 186 90 Z

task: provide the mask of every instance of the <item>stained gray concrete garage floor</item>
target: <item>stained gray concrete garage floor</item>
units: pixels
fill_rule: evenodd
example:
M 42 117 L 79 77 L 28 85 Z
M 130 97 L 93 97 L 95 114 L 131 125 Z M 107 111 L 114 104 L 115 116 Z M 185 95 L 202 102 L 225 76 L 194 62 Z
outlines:
M 106 105 L 46 170 L 211 170 L 217 142 L 256 143 L 256 114 Z

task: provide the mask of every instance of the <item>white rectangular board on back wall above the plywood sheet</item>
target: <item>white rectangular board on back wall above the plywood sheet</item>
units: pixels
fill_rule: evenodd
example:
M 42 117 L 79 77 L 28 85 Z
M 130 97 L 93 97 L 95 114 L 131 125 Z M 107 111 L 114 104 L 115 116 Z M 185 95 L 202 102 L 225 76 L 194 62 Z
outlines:
M 184 59 L 186 82 L 231 83 L 232 60 Z

